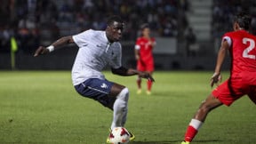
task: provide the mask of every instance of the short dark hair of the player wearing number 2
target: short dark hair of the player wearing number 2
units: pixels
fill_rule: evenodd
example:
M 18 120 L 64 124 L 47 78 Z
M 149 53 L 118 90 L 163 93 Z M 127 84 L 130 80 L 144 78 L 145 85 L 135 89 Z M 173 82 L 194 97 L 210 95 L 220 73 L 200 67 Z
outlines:
M 237 22 L 241 28 L 249 30 L 251 26 L 252 17 L 248 12 L 238 12 L 234 17 L 234 22 Z

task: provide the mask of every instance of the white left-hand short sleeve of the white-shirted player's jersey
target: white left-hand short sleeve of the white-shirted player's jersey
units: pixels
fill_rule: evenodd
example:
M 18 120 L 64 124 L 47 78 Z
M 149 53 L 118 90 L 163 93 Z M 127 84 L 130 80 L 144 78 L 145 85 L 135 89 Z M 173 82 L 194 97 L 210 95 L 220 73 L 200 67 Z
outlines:
M 83 45 L 87 45 L 88 37 L 92 35 L 92 29 L 86 30 L 82 33 L 72 36 L 74 42 L 78 47 L 82 47 Z

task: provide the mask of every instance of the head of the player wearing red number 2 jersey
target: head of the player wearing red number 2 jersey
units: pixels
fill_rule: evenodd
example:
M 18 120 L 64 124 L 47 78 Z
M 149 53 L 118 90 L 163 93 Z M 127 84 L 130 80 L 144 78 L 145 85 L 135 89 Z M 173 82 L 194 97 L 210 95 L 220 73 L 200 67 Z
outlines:
M 247 12 L 239 12 L 234 17 L 234 30 L 249 30 L 251 26 L 251 16 Z

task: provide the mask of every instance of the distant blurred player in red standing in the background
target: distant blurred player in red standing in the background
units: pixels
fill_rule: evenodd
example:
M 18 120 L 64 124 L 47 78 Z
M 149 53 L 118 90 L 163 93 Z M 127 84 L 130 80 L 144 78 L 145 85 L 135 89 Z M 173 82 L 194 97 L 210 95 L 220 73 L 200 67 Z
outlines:
M 140 28 L 141 36 L 137 39 L 135 44 L 135 58 L 137 60 L 137 69 L 140 71 L 147 71 L 151 76 L 154 71 L 153 48 L 156 45 L 154 37 L 150 37 L 150 28 L 148 24 L 143 24 Z M 141 93 L 141 77 L 137 78 L 138 91 Z M 151 94 L 152 82 L 147 82 L 147 94 Z

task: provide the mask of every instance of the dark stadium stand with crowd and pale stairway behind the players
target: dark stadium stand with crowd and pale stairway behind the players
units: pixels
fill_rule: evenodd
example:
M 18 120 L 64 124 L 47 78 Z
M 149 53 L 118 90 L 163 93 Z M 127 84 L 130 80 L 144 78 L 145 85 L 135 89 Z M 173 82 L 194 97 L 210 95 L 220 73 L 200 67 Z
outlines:
M 0 69 L 10 68 L 12 36 L 19 47 L 18 68 L 71 68 L 74 57 L 70 53 L 76 53 L 76 49 L 52 54 L 49 60 L 56 63 L 48 65 L 40 59 L 35 61 L 31 54 L 38 45 L 51 44 L 60 36 L 88 28 L 104 29 L 104 18 L 111 14 L 121 15 L 126 23 L 122 40 L 124 63 L 134 63 L 132 48 L 141 23 L 149 23 L 153 36 L 177 41 L 176 53 L 155 54 L 156 69 L 212 69 L 214 64 L 204 61 L 215 60 L 220 36 L 232 30 L 230 24 L 235 12 L 252 13 L 252 32 L 256 34 L 256 2 L 253 0 L 0 0 L 0 3 Z M 193 57 L 186 54 L 189 28 L 196 33 Z M 60 57 L 71 61 L 70 64 L 58 61 Z M 37 66 L 33 62 L 37 62 Z

